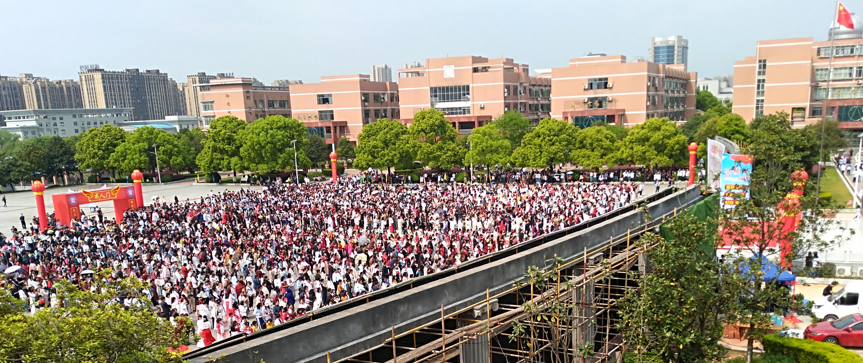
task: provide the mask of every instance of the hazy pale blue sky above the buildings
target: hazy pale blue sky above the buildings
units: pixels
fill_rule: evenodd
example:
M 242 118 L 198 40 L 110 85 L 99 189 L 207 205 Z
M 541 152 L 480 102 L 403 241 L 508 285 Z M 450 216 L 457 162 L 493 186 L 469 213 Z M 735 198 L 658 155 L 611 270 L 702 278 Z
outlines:
M 863 14 L 863 0 L 843 2 Z M 205 71 L 317 82 L 446 55 L 532 69 L 588 52 L 646 56 L 650 37 L 683 35 L 690 71 L 734 71 L 756 40 L 827 38 L 830 0 L 721 1 L 24 1 L 0 0 L 0 74 L 78 79 L 79 65 Z M 394 74 L 394 77 L 396 75 Z

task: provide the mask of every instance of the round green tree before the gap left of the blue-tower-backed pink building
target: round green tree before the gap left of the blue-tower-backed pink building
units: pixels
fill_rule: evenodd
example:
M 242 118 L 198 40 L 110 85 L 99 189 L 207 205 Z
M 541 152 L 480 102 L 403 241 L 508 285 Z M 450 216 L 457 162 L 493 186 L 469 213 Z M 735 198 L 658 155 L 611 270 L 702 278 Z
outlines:
M 569 163 L 576 148 L 576 127 L 564 120 L 543 119 L 539 126 L 525 135 L 513 151 L 512 160 L 518 166 L 551 168 Z

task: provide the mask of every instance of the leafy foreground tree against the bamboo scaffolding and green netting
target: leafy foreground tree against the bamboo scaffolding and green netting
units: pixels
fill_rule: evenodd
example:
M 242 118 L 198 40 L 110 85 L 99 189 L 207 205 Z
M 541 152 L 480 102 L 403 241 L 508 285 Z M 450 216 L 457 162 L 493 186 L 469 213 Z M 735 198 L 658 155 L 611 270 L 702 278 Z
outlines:
M 639 240 L 656 244 L 647 255 L 651 272 L 633 274 L 639 287 L 627 289 L 618 302 L 617 329 L 630 350 L 636 354 L 649 351 L 659 357 L 656 361 L 721 359 L 723 317 L 734 305 L 740 279 L 728 273 L 728 265 L 715 260 L 712 250 L 700 249 L 705 240 L 715 245 L 715 219 L 699 221 L 683 213 L 662 228 L 667 239 L 647 233 Z

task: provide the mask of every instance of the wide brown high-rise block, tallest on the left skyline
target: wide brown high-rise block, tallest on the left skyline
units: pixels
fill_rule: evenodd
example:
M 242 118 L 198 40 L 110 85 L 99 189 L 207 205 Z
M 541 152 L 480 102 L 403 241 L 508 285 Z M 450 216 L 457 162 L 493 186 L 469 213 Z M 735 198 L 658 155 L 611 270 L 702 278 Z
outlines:
M 135 108 L 135 120 L 183 113 L 177 83 L 159 70 L 105 71 L 82 65 L 79 77 L 85 108 Z

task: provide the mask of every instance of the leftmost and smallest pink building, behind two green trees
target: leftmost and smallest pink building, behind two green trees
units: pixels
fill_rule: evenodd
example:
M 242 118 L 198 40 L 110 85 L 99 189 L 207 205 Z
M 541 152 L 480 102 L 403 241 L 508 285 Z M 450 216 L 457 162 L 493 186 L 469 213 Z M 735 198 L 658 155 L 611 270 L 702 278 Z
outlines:
M 209 83 L 192 84 L 200 88 L 201 126 L 226 115 L 252 122 L 274 114 L 291 117 L 290 91 L 287 87 L 264 86 L 255 78 L 215 78 Z

